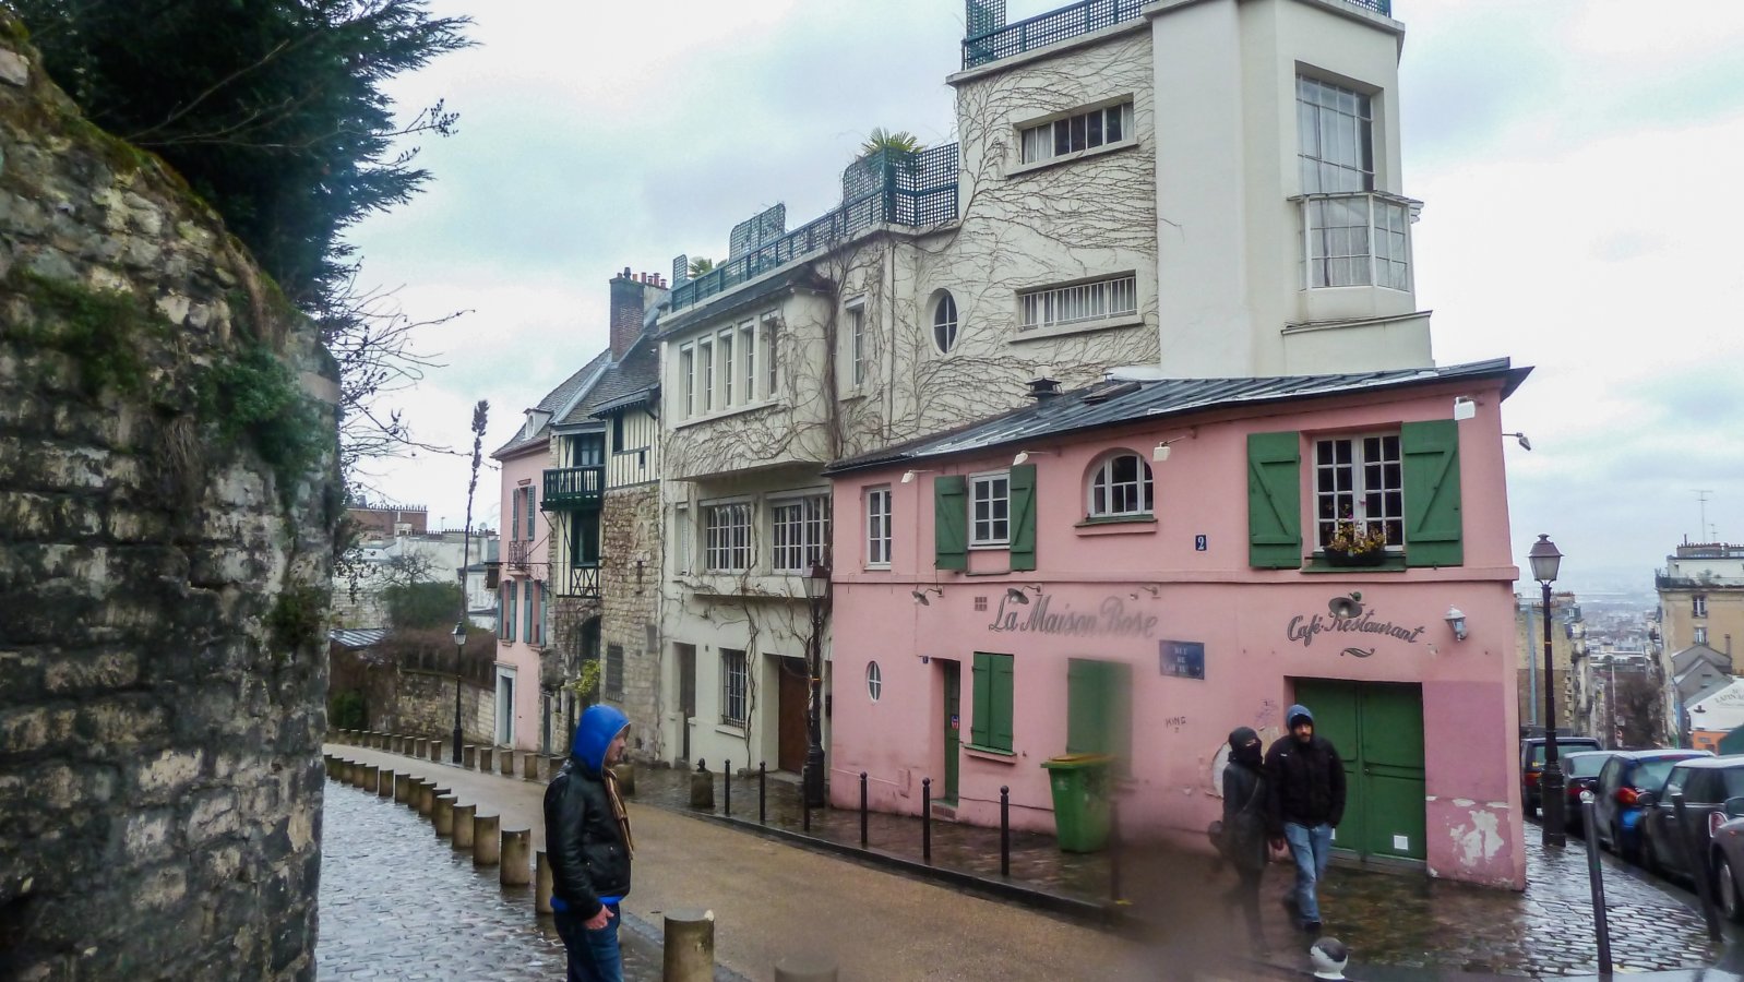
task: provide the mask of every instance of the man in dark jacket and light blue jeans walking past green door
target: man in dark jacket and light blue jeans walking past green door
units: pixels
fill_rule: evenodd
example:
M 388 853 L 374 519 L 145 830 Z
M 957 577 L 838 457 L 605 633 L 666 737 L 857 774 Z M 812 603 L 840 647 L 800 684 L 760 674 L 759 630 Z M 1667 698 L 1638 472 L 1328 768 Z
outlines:
M 1313 713 L 1294 705 L 1284 713 L 1289 733 L 1266 752 L 1266 830 L 1273 848 L 1291 846 L 1296 890 L 1284 902 L 1305 931 L 1320 930 L 1315 888 L 1325 877 L 1332 829 L 1345 818 L 1345 762 L 1313 733 Z

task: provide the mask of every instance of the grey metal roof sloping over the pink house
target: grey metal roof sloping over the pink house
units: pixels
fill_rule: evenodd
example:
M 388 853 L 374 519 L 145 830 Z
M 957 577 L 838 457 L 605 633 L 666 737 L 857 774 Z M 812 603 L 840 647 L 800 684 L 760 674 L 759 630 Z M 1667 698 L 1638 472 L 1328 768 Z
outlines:
M 1038 399 L 1034 405 L 970 424 L 952 433 L 837 460 L 825 467 L 825 473 L 834 474 L 900 460 L 968 453 L 1045 436 L 1060 436 L 1149 419 L 1168 419 L 1228 406 L 1352 396 L 1453 380 L 1503 378 L 1502 396 L 1507 398 L 1529 372 L 1531 368 L 1512 368 L 1507 358 L 1495 358 L 1446 368 L 1397 368 L 1346 375 L 1114 378 L 1085 389 L 1048 396 Z

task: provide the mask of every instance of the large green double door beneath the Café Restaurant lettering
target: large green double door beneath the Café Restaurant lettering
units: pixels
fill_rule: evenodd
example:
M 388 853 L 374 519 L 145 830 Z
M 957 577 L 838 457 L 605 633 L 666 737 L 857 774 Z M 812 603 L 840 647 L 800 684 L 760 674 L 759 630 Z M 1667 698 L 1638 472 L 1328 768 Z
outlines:
M 1423 860 L 1423 687 L 1298 679 L 1296 701 L 1345 760 L 1332 844 L 1362 858 Z

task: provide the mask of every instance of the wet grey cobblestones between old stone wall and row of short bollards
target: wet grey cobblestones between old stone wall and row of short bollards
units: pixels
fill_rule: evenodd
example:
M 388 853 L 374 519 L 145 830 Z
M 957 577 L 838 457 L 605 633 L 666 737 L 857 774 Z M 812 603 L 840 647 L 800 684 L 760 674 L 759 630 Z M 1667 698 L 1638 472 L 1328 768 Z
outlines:
M 417 811 L 328 781 L 321 829 L 317 979 L 563 979 L 563 942 L 532 888 L 501 886 L 497 867 L 474 869 Z M 657 945 L 633 923 L 619 938 L 628 979 L 657 980 Z

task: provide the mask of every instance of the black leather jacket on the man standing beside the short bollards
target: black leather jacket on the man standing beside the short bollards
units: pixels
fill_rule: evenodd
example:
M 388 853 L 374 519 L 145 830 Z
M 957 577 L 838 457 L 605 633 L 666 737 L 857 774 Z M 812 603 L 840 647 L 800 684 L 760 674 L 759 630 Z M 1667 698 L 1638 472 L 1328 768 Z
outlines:
M 630 893 L 630 848 L 603 778 L 570 757 L 546 785 L 544 813 L 551 893 L 570 912 L 593 917 L 600 897 Z

